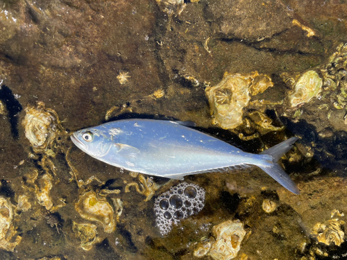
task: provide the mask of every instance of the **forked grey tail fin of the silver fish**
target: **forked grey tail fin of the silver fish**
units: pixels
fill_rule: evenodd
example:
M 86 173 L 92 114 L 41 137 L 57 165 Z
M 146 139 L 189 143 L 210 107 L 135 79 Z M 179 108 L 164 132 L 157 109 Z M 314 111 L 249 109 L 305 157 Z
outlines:
M 279 184 L 281 184 L 283 187 L 285 187 L 287 190 L 291 191 L 295 194 L 300 194 L 300 191 L 298 187 L 296 187 L 296 184 L 291 180 L 289 175 L 282 169 L 280 164 L 278 164 L 278 160 L 280 157 L 285 155 L 291 147 L 293 147 L 293 144 L 298 140 L 298 137 L 291 137 L 285 141 L 282 141 L 282 143 L 277 144 L 276 146 L 273 146 L 267 150 L 264 150 L 264 152 L 260 153 L 262 155 L 271 155 L 273 157 L 273 165 L 272 166 L 265 166 L 265 165 L 257 165 L 258 167 L 262 168 L 262 170 L 269 174 L 273 179 L 275 179 Z

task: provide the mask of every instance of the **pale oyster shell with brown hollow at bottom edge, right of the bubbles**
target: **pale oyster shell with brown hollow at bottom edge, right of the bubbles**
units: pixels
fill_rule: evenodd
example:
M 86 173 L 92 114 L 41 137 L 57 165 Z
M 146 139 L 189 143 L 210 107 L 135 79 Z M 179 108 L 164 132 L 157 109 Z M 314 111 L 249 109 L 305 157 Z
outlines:
M 228 220 L 212 227 L 212 234 L 216 238 L 210 256 L 215 260 L 228 260 L 237 257 L 246 230 L 239 220 Z

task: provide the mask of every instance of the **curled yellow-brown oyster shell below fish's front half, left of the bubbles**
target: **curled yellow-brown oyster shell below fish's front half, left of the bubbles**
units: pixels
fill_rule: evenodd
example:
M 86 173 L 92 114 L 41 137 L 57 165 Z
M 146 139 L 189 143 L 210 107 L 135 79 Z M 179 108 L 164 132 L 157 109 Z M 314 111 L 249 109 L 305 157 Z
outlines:
M 100 222 L 106 233 L 115 231 L 114 211 L 105 198 L 98 198 L 95 191 L 83 193 L 75 204 L 76 211 L 82 218 Z

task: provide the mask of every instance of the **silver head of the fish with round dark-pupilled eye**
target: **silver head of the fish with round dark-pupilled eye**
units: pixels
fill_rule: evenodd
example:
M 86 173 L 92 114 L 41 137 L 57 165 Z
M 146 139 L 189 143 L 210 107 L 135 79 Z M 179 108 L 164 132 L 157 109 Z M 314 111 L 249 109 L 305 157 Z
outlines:
M 70 138 L 78 148 L 95 158 L 105 156 L 113 143 L 113 137 L 108 131 L 97 128 L 78 130 Z

